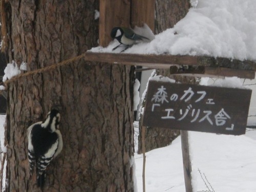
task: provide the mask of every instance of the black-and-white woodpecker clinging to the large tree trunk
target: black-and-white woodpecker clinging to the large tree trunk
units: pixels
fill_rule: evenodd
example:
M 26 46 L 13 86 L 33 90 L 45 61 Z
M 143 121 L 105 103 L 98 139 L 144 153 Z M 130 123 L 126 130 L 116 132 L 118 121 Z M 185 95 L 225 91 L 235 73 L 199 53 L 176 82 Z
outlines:
M 49 163 L 62 150 L 62 136 L 59 129 L 60 114 L 51 110 L 45 121 L 28 127 L 28 157 L 30 175 L 36 166 L 37 186 L 43 187 L 46 179 L 45 170 Z

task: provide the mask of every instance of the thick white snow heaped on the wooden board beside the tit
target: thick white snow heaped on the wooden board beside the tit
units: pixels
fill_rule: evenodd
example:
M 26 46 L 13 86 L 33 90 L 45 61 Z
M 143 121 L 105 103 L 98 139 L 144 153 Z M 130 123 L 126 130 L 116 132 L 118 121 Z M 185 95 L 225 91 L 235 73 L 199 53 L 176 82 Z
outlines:
M 194 0 L 193 5 L 196 8 L 190 8 L 174 28 L 156 35 L 151 42 L 134 45 L 124 53 L 256 59 L 256 1 Z M 117 45 L 117 41 L 112 41 L 107 48 L 97 47 L 91 51 L 112 52 Z

